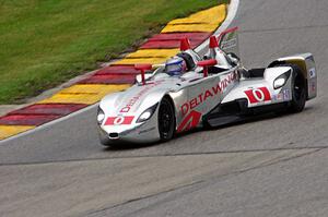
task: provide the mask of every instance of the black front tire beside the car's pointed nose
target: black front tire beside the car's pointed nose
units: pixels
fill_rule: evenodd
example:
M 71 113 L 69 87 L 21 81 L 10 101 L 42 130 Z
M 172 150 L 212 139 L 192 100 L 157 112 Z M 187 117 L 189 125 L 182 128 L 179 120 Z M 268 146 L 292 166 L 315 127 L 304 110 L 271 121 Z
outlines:
M 174 107 L 167 97 L 164 97 L 159 109 L 159 132 L 161 141 L 169 141 L 175 133 Z

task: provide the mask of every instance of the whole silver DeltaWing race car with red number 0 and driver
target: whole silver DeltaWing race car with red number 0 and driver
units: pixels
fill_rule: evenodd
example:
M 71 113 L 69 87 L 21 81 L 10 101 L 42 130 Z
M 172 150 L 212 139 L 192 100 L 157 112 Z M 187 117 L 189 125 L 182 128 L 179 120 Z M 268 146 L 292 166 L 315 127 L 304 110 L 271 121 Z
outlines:
M 185 62 L 181 74 L 168 73 L 169 63 L 136 65 L 141 71 L 136 84 L 99 103 L 101 143 L 168 141 L 194 128 L 219 126 L 262 112 L 300 112 L 306 100 L 316 97 L 317 72 L 311 53 L 247 70 L 237 44 L 237 27 L 223 32 L 219 39 L 212 36 L 203 57 L 183 39 L 176 58 Z

